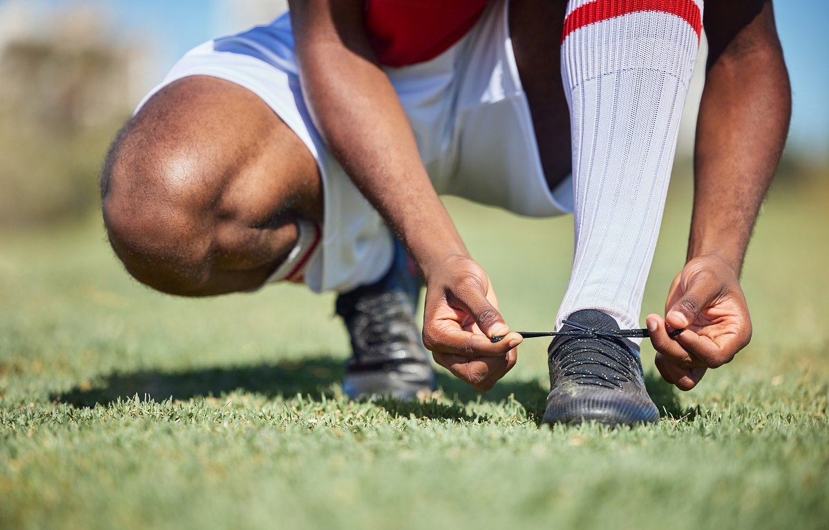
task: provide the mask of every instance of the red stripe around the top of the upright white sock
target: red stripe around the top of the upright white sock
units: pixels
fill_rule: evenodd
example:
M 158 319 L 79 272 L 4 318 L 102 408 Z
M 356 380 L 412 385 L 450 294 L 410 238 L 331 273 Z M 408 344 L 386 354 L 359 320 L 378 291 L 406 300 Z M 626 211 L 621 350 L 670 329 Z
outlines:
M 702 32 L 702 13 L 691 0 L 595 0 L 576 7 L 565 19 L 561 41 L 580 27 L 633 12 L 656 11 L 680 17 L 694 29 L 696 37 Z

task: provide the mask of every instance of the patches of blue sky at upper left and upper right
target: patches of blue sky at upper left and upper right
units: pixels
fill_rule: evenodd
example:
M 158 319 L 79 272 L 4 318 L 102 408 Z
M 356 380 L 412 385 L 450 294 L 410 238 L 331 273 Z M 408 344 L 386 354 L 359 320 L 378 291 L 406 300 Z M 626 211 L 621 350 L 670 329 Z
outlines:
M 7 1 L 0 0 L 0 4 Z M 28 1 L 55 6 L 71 0 Z M 213 15 L 217 0 L 99 2 L 112 8 L 119 29 L 152 41 L 160 53 L 159 71 L 166 70 L 190 47 L 217 34 L 242 29 L 230 27 L 227 20 Z M 829 2 L 778 1 L 775 10 L 794 93 L 791 143 L 822 151 L 825 157 L 829 153 L 829 32 L 825 28 Z

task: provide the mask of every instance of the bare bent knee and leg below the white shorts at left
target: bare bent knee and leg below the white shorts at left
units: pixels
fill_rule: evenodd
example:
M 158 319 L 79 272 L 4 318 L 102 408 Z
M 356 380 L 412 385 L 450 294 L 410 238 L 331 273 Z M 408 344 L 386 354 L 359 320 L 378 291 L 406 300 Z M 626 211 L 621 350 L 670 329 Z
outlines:
M 115 252 L 169 294 L 255 289 L 296 243 L 294 220 L 322 221 L 312 154 L 259 97 L 212 77 L 149 100 L 111 148 L 101 187 Z

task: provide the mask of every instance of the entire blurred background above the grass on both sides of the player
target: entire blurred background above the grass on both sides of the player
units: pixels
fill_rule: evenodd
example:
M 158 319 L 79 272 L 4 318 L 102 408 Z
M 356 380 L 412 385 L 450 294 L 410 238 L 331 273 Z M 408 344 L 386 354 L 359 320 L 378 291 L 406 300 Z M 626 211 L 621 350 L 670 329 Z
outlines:
M 778 2 L 794 93 L 778 185 L 829 161 L 829 4 Z M 88 216 L 114 133 L 192 46 L 266 23 L 280 0 L 0 0 L 0 230 Z M 704 53 L 701 53 L 704 56 Z M 688 100 L 678 175 L 691 158 L 701 71 Z M 681 178 L 681 177 L 679 177 Z

